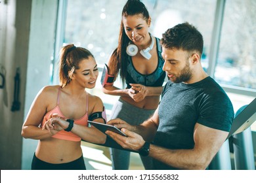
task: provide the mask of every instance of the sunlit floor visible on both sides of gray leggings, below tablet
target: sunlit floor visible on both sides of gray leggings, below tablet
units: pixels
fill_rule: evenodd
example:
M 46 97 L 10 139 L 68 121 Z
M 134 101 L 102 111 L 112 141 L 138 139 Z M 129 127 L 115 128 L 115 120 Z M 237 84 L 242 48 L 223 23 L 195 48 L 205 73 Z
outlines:
M 88 170 L 112 170 L 109 148 L 83 141 L 81 147 Z M 130 170 L 144 170 L 139 154 L 131 152 L 130 159 Z

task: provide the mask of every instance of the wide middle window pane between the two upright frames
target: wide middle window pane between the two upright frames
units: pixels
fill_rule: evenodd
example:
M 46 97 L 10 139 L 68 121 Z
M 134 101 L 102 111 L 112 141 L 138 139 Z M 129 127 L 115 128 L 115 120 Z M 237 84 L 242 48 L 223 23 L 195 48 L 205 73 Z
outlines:
M 100 67 L 108 61 L 117 46 L 121 10 L 127 0 L 73 0 L 66 8 L 64 44 L 73 42 L 76 46 L 89 49 Z M 213 30 L 215 1 L 194 0 L 144 0 L 142 1 L 152 17 L 150 32 L 161 38 L 168 28 L 182 22 L 194 24 L 202 32 L 205 54 L 209 52 Z M 101 76 L 101 73 L 99 77 Z M 119 84 L 119 87 L 122 85 Z M 110 110 L 117 97 L 105 96 L 101 92 L 100 78 L 96 88 L 90 92 L 99 95 Z M 109 114 L 110 111 L 108 111 Z

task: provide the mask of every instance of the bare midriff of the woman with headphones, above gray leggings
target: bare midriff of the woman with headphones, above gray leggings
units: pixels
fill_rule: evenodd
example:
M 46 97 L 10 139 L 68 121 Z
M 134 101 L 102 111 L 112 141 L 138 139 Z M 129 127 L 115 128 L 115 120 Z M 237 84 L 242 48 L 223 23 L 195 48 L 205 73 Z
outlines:
M 142 101 L 135 102 L 131 97 L 123 97 L 121 99 L 126 101 L 127 103 L 144 109 L 156 109 L 158 108 L 158 103 L 160 101 L 160 96 L 148 96 L 145 97 Z

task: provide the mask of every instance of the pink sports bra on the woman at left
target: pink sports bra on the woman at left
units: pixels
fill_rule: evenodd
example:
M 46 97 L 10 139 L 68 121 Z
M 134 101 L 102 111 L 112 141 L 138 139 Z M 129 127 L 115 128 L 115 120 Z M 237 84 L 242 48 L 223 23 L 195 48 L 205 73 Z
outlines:
M 60 93 L 61 93 L 61 90 L 59 88 L 58 89 L 58 96 L 57 96 L 57 105 L 56 105 L 56 107 L 54 107 L 52 110 L 50 110 L 49 112 L 47 112 L 45 114 L 45 118 L 43 118 L 43 122 L 41 122 L 41 127 L 43 127 L 45 122 L 47 120 L 49 120 L 50 114 L 57 113 L 59 116 L 62 116 L 63 118 L 66 118 L 62 114 L 62 112 L 60 110 L 60 107 L 59 107 L 59 96 L 60 96 Z M 83 115 L 78 120 L 74 120 L 74 124 L 88 126 L 88 122 L 87 121 L 88 121 L 88 93 L 87 93 L 87 99 L 86 99 L 86 113 L 85 113 L 85 115 Z M 79 136 L 75 135 L 71 131 L 64 131 L 64 130 L 59 131 L 58 133 L 56 133 L 52 137 L 54 137 L 56 139 L 66 140 L 66 141 L 75 141 L 75 142 L 81 141 L 81 138 Z

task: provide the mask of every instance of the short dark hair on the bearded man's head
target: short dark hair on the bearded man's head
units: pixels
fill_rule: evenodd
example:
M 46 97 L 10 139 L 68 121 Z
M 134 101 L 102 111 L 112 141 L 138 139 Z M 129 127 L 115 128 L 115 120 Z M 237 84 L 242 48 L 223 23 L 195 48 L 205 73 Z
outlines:
M 188 52 L 198 52 L 202 56 L 203 36 L 194 25 L 184 22 L 167 29 L 163 33 L 161 45 L 169 49 L 178 49 Z

